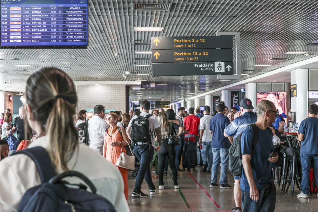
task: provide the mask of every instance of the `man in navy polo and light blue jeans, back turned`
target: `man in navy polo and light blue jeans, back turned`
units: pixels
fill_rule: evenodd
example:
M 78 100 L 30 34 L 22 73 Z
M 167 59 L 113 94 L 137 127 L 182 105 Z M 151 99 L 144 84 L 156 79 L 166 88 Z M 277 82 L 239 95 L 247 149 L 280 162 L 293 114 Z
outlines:
M 213 153 L 213 163 L 211 169 L 211 185 L 210 188 L 218 187 L 217 178 L 218 178 L 218 168 L 221 161 L 221 176 L 220 176 L 220 188 L 227 189 L 233 188 L 227 183 L 227 169 L 229 166 L 229 148 L 230 141 L 226 138 L 224 133 L 224 128 L 231 124 L 229 118 L 227 118 L 225 113 L 225 106 L 223 104 L 218 104 L 217 106 L 218 113 L 213 116 L 210 120 L 210 133 L 213 133 L 212 136 L 212 153 Z

